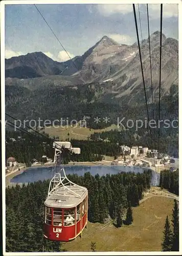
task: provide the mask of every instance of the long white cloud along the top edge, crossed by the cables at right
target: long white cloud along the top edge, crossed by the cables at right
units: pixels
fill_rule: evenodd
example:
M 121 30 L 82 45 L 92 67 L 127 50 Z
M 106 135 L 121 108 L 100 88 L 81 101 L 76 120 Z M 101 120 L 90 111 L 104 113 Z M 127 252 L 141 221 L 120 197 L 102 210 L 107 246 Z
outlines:
M 159 18 L 160 13 L 160 4 L 149 4 L 149 16 L 152 19 Z M 140 4 L 139 5 L 140 12 L 147 14 L 146 5 Z M 99 12 L 104 16 L 110 16 L 112 14 L 121 13 L 121 14 L 128 14 L 133 12 L 132 4 L 103 4 L 98 5 Z M 135 10 L 138 13 L 138 5 L 135 5 Z M 178 5 L 177 4 L 163 4 L 163 18 L 170 18 L 170 17 L 178 17 Z

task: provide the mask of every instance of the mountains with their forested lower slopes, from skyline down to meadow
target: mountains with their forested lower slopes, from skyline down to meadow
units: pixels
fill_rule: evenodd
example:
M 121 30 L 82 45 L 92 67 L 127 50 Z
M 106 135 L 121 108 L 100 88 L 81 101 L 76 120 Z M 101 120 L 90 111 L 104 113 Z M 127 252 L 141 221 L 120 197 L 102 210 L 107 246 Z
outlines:
M 166 38 L 163 34 L 162 42 L 161 96 L 162 99 L 173 96 L 173 103 L 169 104 L 171 107 L 171 104 L 178 102 L 178 41 Z M 153 98 L 157 108 L 160 32 L 150 35 L 150 47 Z M 151 104 L 148 39 L 141 42 L 141 54 L 147 100 Z M 108 36 L 103 36 L 96 45 L 82 56 L 75 57 L 73 61 L 57 62 L 41 52 L 36 52 L 12 57 L 5 62 L 6 110 L 16 114 L 16 117 L 30 117 L 30 113 L 46 118 L 52 118 L 56 113 L 59 116 L 70 116 L 68 112 L 72 112 L 73 117 L 84 114 L 92 116 L 93 111 L 97 112 L 96 105 L 99 104 L 105 105 L 103 108 L 107 111 L 110 105 L 110 113 L 125 111 L 128 106 L 146 109 L 137 43 L 131 46 L 121 45 Z M 103 108 L 99 111 L 105 113 Z M 83 113 L 83 110 L 87 113 Z M 177 113 L 177 105 L 174 111 Z

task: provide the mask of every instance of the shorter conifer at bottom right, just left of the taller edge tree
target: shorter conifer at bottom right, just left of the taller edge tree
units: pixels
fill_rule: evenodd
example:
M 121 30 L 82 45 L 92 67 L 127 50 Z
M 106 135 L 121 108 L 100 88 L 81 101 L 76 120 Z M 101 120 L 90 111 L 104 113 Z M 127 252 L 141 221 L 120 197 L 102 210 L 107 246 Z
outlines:
M 164 226 L 164 239 L 162 243 L 162 251 L 171 251 L 172 247 L 172 231 L 170 229 L 170 224 L 168 220 L 168 216 L 166 217 L 166 223 Z

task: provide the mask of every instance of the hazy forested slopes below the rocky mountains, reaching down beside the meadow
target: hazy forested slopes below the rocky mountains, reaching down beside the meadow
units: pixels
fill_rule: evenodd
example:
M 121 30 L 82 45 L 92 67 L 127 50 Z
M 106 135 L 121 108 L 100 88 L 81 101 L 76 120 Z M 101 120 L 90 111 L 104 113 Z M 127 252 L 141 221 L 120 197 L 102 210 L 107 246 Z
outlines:
M 160 151 L 178 155 L 178 121 L 174 121 L 174 126 L 171 125 L 173 120 L 178 120 L 178 93 L 175 85 L 171 87 L 170 94 L 161 100 L 161 120 L 169 120 L 169 126 L 164 127 L 164 123 L 160 124 Z M 43 122 L 48 119 L 50 122 L 54 120 L 67 119 L 63 125 L 70 124 L 75 119 L 77 122 L 86 120 L 86 127 L 93 129 L 103 129 L 111 124 L 122 125 L 127 128 L 127 120 L 133 121 L 133 127 L 129 127 L 126 131 L 121 131 L 123 126 L 120 125 L 119 131 L 107 132 L 105 134 L 92 135 L 91 139 L 96 141 L 96 138 L 105 137 L 111 138 L 111 142 L 126 143 L 126 144 L 143 144 L 151 148 L 151 139 L 147 120 L 147 111 L 145 102 L 141 101 L 137 105 L 123 104 L 121 99 L 113 100 L 112 93 L 108 88 L 100 84 L 90 84 L 71 87 L 54 87 L 40 88 L 30 91 L 27 88 L 18 86 L 6 87 L 6 112 L 16 119 L 35 120 L 38 125 L 38 119 Z M 153 119 L 152 104 L 148 104 L 149 118 Z M 95 118 L 108 117 L 108 122 L 96 122 Z M 6 116 L 8 120 L 11 120 Z M 154 103 L 154 119 L 156 120 L 156 128 L 151 129 L 153 146 L 157 145 L 158 133 L 158 104 Z M 143 126 L 137 129 L 137 120 L 143 121 Z M 13 121 L 13 120 L 11 120 Z M 55 125 L 59 125 L 59 121 Z M 131 125 L 131 122 L 129 126 Z M 8 129 L 8 126 L 7 126 Z M 154 141 L 155 134 L 155 141 Z M 60 136 L 61 139 L 61 136 Z M 72 139 L 72 138 L 70 138 Z M 156 143 L 155 143 L 156 142 Z M 156 144 L 156 145 L 155 145 Z

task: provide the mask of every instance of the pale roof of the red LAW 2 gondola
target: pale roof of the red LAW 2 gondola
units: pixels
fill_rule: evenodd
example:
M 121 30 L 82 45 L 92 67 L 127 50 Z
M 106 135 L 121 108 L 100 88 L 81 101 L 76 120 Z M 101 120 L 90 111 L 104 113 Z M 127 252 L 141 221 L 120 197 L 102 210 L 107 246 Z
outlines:
M 74 193 L 77 195 L 74 195 Z M 80 204 L 86 195 L 86 187 L 80 187 L 77 185 L 62 186 L 58 188 L 52 195 L 47 197 L 44 204 L 48 207 L 71 208 Z

